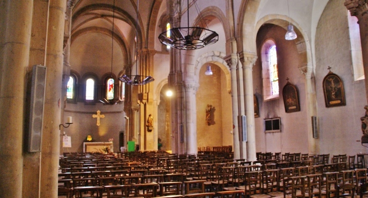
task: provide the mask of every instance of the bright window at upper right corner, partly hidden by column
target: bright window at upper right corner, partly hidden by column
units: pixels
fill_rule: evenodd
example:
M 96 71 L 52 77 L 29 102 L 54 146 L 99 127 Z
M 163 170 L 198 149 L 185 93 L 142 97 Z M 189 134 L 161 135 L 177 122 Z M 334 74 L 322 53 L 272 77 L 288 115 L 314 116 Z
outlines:
M 354 80 L 362 80 L 364 79 L 364 69 L 358 19 L 351 16 L 349 11 L 347 14 L 347 19 L 349 24 L 351 60 L 354 72 Z

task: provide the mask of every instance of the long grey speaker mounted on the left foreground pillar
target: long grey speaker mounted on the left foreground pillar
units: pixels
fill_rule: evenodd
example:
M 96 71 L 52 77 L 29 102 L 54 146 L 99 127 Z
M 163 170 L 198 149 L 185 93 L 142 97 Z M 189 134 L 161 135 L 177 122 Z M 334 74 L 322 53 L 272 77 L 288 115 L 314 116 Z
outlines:
M 29 98 L 28 152 L 41 151 L 46 67 L 33 65 Z

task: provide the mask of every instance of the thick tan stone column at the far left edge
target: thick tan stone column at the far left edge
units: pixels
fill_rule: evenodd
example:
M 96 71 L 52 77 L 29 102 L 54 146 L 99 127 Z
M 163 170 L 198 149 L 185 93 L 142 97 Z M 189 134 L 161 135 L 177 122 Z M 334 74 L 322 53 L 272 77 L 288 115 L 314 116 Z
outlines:
M 26 71 L 32 0 L 2 1 L 0 8 L 0 192 L 22 197 Z

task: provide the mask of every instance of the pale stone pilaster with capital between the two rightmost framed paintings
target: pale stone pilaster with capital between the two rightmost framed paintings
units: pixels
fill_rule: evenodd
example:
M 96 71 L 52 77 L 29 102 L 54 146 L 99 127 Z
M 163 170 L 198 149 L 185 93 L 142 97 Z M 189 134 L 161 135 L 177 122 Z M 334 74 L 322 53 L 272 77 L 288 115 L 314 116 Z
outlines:
M 317 115 L 317 96 L 316 92 L 313 90 L 313 82 L 312 82 L 312 65 L 299 67 L 299 70 L 302 74 L 305 75 L 305 91 L 306 91 L 306 114 L 308 121 L 308 153 L 317 154 L 317 139 L 313 138 L 313 127 L 312 127 L 312 116 Z

